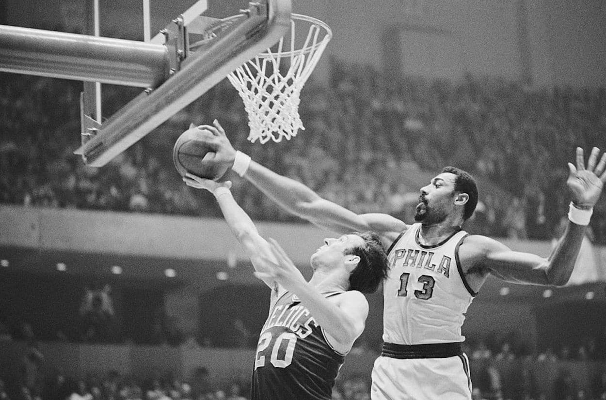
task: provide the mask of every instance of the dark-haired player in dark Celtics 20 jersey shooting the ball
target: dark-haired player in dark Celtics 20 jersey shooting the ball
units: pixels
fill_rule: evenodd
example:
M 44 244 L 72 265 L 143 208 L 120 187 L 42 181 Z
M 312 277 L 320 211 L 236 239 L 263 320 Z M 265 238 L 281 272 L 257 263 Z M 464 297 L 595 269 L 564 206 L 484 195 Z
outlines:
M 252 400 L 330 399 L 339 368 L 364 330 L 368 303 L 387 276 L 387 255 L 371 232 L 327 238 L 311 255 L 305 281 L 278 243 L 268 243 L 229 190 L 191 174 L 184 182 L 212 192 L 242 243 L 255 275 L 271 287 L 270 312 L 259 336 Z

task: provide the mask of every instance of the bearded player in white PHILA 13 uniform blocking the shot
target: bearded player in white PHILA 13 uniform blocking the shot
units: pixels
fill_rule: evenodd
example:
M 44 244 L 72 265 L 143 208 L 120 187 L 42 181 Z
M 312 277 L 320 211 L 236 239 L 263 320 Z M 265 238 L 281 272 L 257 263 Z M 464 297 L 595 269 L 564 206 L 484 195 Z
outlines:
M 461 326 L 471 301 L 488 275 L 520 284 L 566 284 L 606 181 L 606 154 L 599 158 L 600 150 L 593 148 L 585 167 L 577 148 L 576 166 L 568 163 L 568 225 L 543 258 L 462 231 L 476 208 L 478 189 L 461 169 L 446 167 L 421 188 L 416 223 L 407 225 L 387 214 L 358 215 L 328 202 L 236 151 L 216 120 L 203 128 L 213 133 L 208 145 L 215 152 L 207 160 L 231 166 L 284 209 L 335 232 L 372 230 L 381 237 L 390 272 L 383 290 L 384 345 L 372 373 L 374 400 L 471 399 L 461 351 Z

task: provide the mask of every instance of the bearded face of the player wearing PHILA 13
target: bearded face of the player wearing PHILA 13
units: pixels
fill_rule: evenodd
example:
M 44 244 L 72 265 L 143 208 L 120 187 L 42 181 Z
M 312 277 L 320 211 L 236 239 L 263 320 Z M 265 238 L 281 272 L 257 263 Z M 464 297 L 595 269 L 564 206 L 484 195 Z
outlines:
M 429 185 L 421 188 L 419 204 L 416 206 L 415 221 L 423 225 L 433 225 L 444 221 L 454 210 L 454 181 L 456 175 L 442 172 L 431 179 Z

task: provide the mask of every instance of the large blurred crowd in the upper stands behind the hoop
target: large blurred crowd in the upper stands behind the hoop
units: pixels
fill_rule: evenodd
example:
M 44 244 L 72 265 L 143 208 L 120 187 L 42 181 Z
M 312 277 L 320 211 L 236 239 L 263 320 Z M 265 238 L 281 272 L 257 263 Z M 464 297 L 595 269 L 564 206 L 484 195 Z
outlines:
M 248 142 L 242 101 L 223 80 L 97 169 L 73 154 L 81 144 L 80 91 L 79 82 L 0 74 L 1 203 L 218 216 L 213 199 L 182 185 L 171 164 L 188 124 L 216 118 L 236 148 L 353 211 L 410 220 L 425 177 L 455 165 L 481 180 L 468 229 L 549 240 L 566 211 L 574 147 L 606 148 L 604 88 L 539 89 L 472 76 L 430 81 L 333 60 L 328 84 L 305 85 L 305 130 L 290 141 Z M 104 85 L 103 93 L 110 116 L 138 91 Z M 235 180 L 233 191 L 255 219 L 295 220 L 247 182 Z M 592 224 L 605 243 L 602 203 Z

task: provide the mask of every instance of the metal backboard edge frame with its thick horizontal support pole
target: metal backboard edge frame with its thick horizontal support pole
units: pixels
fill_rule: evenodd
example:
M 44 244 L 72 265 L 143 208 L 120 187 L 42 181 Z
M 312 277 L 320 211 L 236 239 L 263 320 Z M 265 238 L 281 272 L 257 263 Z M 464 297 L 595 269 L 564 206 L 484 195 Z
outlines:
M 0 25 L 0 71 L 146 87 L 102 124 L 100 116 L 82 113 L 87 140 L 75 154 L 100 167 L 278 42 L 290 27 L 290 0 L 250 2 L 241 11 L 233 27 L 196 51 L 189 51 L 182 15 L 161 31 L 163 45 Z M 84 97 L 81 106 L 88 107 Z

